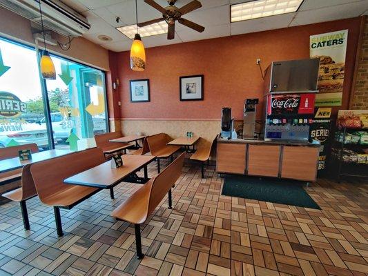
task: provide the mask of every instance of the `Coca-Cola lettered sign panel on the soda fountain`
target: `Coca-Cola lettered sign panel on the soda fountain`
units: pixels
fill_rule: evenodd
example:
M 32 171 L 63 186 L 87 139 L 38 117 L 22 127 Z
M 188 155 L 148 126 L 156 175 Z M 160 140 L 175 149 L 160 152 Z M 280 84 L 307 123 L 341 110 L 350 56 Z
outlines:
M 300 95 L 272 95 L 271 114 L 297 114 Z

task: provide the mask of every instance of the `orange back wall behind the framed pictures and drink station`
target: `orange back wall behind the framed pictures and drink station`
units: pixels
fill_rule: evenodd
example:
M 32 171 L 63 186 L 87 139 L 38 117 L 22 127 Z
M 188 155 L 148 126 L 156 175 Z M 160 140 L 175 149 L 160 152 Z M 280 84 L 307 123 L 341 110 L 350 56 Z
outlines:
M 349 29 L 342 108 L 347 108 L 358 46 L 360 18 L 345 19 L 146 49 L 146 70 L 129 68 L 129 52 L 115 55 L 122 118 L 220 119 L 230 106 L 242 118 L 244 99 L 260 98 L 263 70 L 271 61 L 309 57 L 309 36 Z M 111 62 L 111 59 L 110 59 Z M 204 75 L 204 101 L 180 101 L 179 77 Z M 130 103 L 129 80 L 150 79 L 151 102 Z M 261 108 L 258 117 L 261 115 Z

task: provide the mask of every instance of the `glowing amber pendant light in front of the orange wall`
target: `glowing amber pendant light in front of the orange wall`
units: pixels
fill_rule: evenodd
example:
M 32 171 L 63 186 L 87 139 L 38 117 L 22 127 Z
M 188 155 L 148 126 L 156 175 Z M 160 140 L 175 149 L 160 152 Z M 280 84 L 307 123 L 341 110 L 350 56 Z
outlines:
M 135 18 L 137 19 L 137 33 L 130 48 L 130 69 L 133 71 L 144 71 L 146 69 L 146 53 L 144 52 L 141 36 L 138 33 L 137 0 L 135 0 Z

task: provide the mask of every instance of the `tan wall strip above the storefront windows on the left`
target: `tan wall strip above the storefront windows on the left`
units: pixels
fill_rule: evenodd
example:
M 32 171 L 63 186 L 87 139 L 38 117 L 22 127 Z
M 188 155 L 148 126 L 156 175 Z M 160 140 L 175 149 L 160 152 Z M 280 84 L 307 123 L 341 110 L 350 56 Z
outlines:
M 0 35 L 35 46 L 35 41 L 33 40 L 30 28 L 30 21 L 5 8 L 0 8 Z M 66 37 L 62 37 L 59 34 L 53 33 L 52 37 L 61 43 L 66 43 L 68 41 Z M 67 51 L 61 50 L 59 46 L 47 47 L 50 52 L 54 52 L 57 55 L 67 57 L 102 70 L 109 70 L 108 50 L 84 39 L 83 37 L 76 37 L 73 39 L 72 45 Z

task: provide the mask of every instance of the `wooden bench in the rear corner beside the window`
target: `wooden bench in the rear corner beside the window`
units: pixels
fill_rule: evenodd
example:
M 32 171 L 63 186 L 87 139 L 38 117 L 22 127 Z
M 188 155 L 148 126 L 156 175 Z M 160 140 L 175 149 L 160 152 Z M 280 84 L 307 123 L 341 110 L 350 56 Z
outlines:
M 121 137 L 122 133 L 119 131 L 95 135 L 96 146 L 101 148 L 101 150 L 104 152 L 104 155 L 111 155 L 115 152 L 124 152 L 124 154 L 126 154 L 126 149 L 133 147 L 133 144 L 110 142 L 112 139 Z

